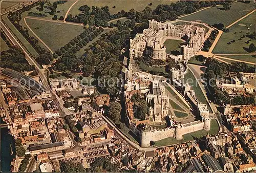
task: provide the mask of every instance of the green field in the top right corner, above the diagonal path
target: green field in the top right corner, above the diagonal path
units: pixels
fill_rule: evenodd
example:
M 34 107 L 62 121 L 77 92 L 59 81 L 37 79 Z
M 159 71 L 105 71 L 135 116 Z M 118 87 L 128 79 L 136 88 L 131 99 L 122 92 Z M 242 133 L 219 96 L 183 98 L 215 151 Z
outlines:
M 222 23 L 224 26 L 228 26 L 250 11 L 254 10 L 255 6 L 251 1 L 249 4 L 241 2 L 232 3 L 231 8 L 228 11 L 221 10 L 221 8 L 221 6 L 208 8 L 198 13 L 182 17 L 181 19 L 190 21 L 197 20 L 209 25 Z

